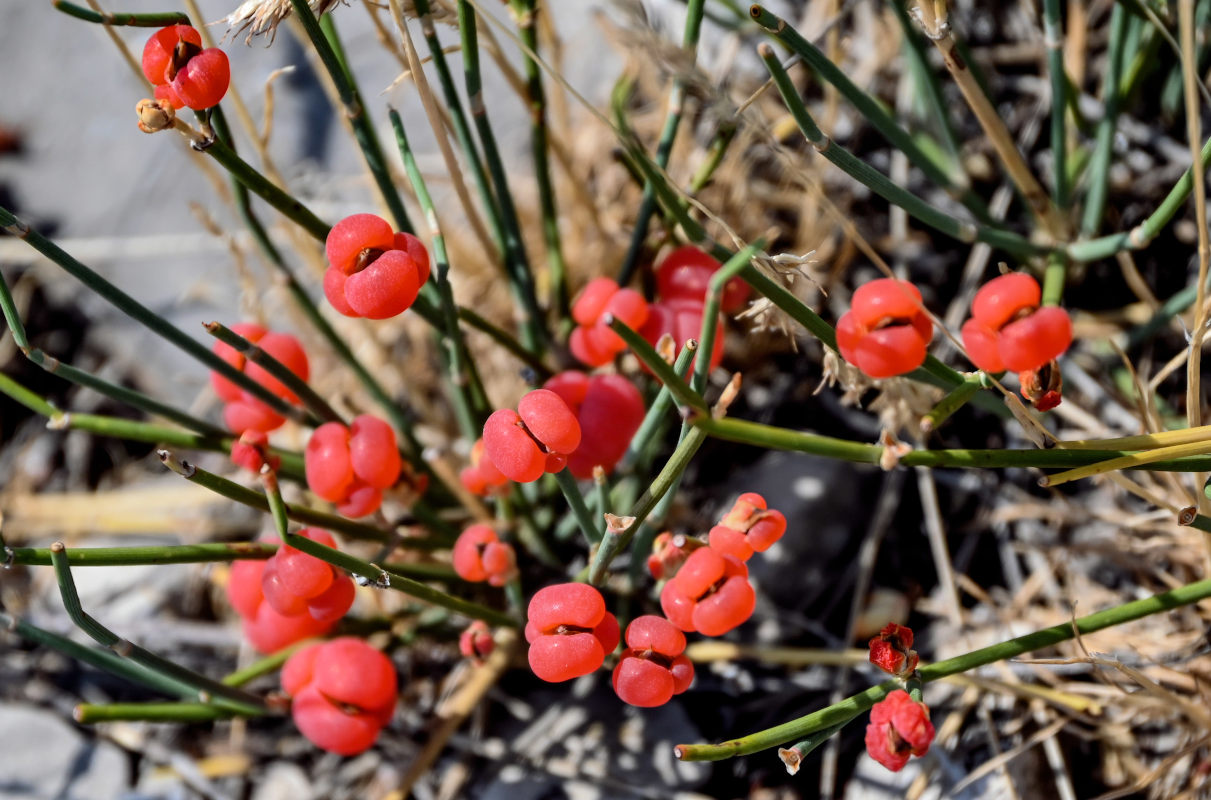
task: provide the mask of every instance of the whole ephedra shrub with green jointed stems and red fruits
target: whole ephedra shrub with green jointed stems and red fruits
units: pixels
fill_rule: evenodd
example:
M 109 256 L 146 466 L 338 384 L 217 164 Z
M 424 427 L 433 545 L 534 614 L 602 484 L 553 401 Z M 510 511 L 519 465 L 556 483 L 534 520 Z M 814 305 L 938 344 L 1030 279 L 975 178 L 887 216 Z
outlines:
M 391 0 L 386 8 L 367 2 L 383 36 L 383 58 L 407 70 L 403 86 L 419 94 L 426 111 L 404 119 L 363 93 L 350 70 L 337 24 L 352 8 L 252 0 L 226 24 L 265 41 L 280 25 L 299 36 L 322 65 L 334 113 L 345 117 L 363 156 L 374 192 L 365 196 L 363 211 L 332 220 L 292 194 L 272 166 L 242 104 L 240 92 L 249 91 L 249 81 L 231 73 L 224 52 L 242 45 L 214 45 L 193 4 L 185 12 L 162 13 L 52 5 L 64 12 L 62 24 L 147 29 L 142 53 L 137 47 L 127 53 L 132 65 L 140 65 L 148 94 L 132 97 L 131 136 L 154 134 L 144 142 L 149 148 L 190 148 L 229 178 L 249 241 L 308 326 L 292 333 L 223 320 L 205 326 L 213 344 L 201 344 L 194 332 L 174 327 L 0 208 L 5 232 L 178 347 L 197 370 L 208 370 L 210 391 L 223 411 L 197 416 L 154 391 L 110 382 L 42 352 L 27 336 L 8 274 L 0 282 L 0 305 L 25 357 L 142 416 L 57 408 L 8 375 L 0 376 L 0 391 L 53 428 L 154 444 L 167 468 L 264 512 L 271 530 L 256 541 L 162 547 L 5 546 L 10 569 L 53 569 L 68 615 L 98 646 L 15 614 L 0 620 L 39 646 L 110 670 L 147 692 L 145 702 L 80 704 L 82 723 L 202 724 L 289 713 L 316 747 L 342 755 L 365 752 L 394 735 L 401 678 L 392 655 L 407 644 L 390 631 L 394 622 L 421 614 L 418 609 L 438 609 L 443 620 L 457 621 L 453 635 L 450 629 L 444 634 L 459 639 L 477 669 L 489 670 L 481 691 L 528 661 L 533 674 L 550 683 L 598 673 L 607 679 L 610 669 L 619 706 L 691 704 L 695 673 L 701 675 L 711 658 L 707 640 L 735 640 L 736 631 L 739 640 L 751 640 L 745 626 L 762 605 L 764 587 L 750 565 L 788 558 L 798 551 L 779 549 L 780 541 L 814 535 L 810 523 L 788 524 L 790 514 L 770 507 L 776 500 L 762 487 L 739 487 L 712 500 L 722 513 L 688 530 L 685 519 L 704 516 L 678 511 L 675 502 L 700 500 L 710 489 L 683 482 L 708 439 L 889 473 L 913 470 L 923 502 L 934 491 L 929 471 L 985 471 L 995 485 L 1017 479 L 1010 468 L 1033 470 L 1043 487 L 1104 476 L 1115 491 L 1146 503 L 1144 513 L 1161 512 L 1170 528 L 1211 531 L 1204 489 L 1211 428 L 1201 425 L 1198 356 L 1207 324 L 1211 251 L 1203 168 L 1211 142 L 1200 149 L 1201 50 L 1194 44 L 1195 15 L 1205 18 L 1204 6 L 1211 4 L 1110 10 L 1075 2 L 1068 4 L 1067 18 L 1058 0 L 1026 8 L 1043 42 L 1038 61 L 1050 93 L 1041 108 L 1050 121 L 1046 157 L 1037 159 L 1031 145 L 1015 139 L 1018 132 L 1003 119 L 1004 107 L 989 97 L 988 76 L 977 74 L 980 64 L 966 47 L 965 22 L 1006 13 L 978 4 L 954 16 L 945 0 L 853 4 L 902 42 L 894 71 L 897 91 L 913 99 L 909 113 L 903 103 L 879 97 L 874 81 L 871 91 L 860 86 L 845 68 L 862 54 L 846 53 L 837 40 L 837 30 L 849 24 L 850 4 L 810 4 L 827 19 L 816 44 L 762 5 L 744 10 L 689 0 L 681 47 L 666 45 L 676 67 L 658 115 L 661 125 L 652 126 L 641 120 L 635 99 L 650 75 L 624 76 L 610 108 L 598 109 L 552 65 L 557 39 L 547 35 L 550 17 L 563 7 L 511 0 L 506 24 L 475 0 Z M 706 17 L 752 46 L 767 73 L 753 88 L 765 86 L 736 99 L 733 86 L 710 84 L 695 65 Z M 1108 17 L 1097 23 L 1108 30 L 1104 51 L 1086 38 L 1102 17 Z M 457 36 L 461 70 L 437 23 Z M 125 48 L 134 40 L 121 33 L 115 41 Z M 1101 75 L 1085 76 L 1086 54 L 1096 54 L 1090 64 L 1102 68 Z M 512 80 L 518 98 L 511 102 L 527 109 L 532 157 L 526 168 L 498 144 L 498 103 L 486 105 L 483 97 L 488 61 Z M 115 80 L 122 69 L 117 57 L 98 54 L 97 63 L 108 64 Z M 1077 63 L 1083 80 L 1071 74 Z M 1097 82 L 1101 103 L 1091 113 L 1083 92 Z M 1184 105 L 1172 110 L 1184 108 L 1181 138 L 1198 168 L 1187 169 L 1159 200 L 1132 198 L 1136 206 L 1149 203 L 1148 211 L 1131 212 L 1138 221 L 1124 226 L 1135 218 L 1110 207 L 1118 116 L 1131 102 L 1147 110 L 1150 100 L 1140 94 L 1150 84 L 1182 91 Z M 576 180 L 586 174 L 604 179 L 575 161 L 579 151 L 569 146 L 568 132 L 552 125 L 556 108 L 567 119 L 569 100 L 580 104 L 579 125 L 614 148 L 607 167 L 630 182 L 619 195 L 626 203 L 625 231 L 607 230 L 598 220 L 604 246 L 591 247 L 576 228 L 584 206 L 593 211 L 602 202 Z M 846 109 L 851 128 L 878 138 L 877 148 L 853 131 L 844 143 L 831 138 L 839 108 Z M 710 113 L 698 114 L 702 109 Z M 120 119 L 127 109 L 113 113 Z M 247 130 L 236 130 L 233 120 Z M 653 127 L 658 136 L 649 136 Z M 438 206 L 426 186 L 435 175 L 420 169 L 409 144 L 421 128 L 440 140 L 444 169 L 438 178 L 453 186 L 457 202 Z M 392 139 L 395 146 L 386 146 Z M 678 165 L 678 142 L 688 139 L 695 159 Z M 896 174 L 884 169 L 888 159 L 868 157 L 884 148 L 894 154 Z M 969 150 L 980 151 L 981 168 L 1003 180 L 1003 190 L 985 191 L 972 178 Z M 765 156 L 764 165 L 754 152 Z M 748 171 L 745 180 L 736 180 L 737 163 Z M 791 232 L 769 228 L 757 191 L 769 189 L 761 183 L 763 171 L 788 175 L 788 185 L 810 200 L 799 213 L 810 208 L 825 221 L 800 218 L 788 223 Z M 691 177 L 685 180 L 682 172 Z M 855 207 L 871 218 L 842 212 L 836 192 L 821 190 L 825 177 L 866 197 Z M 711 194 L 719 184 L 728 185 L 730 198 Z M 1140 289 L 1152 318 L 1130 332 L 1126 345 L 1149 341 L 1182 313 L 1188 338 L 1155 353 L 1160 362 L 1171 361 L 1154 373 L 1142 372 L 1131 352 L 1119 350 L 1130 379 L 1115 397 L 1138 409 L 1136 430 L 1113 438 L 1073 434 L 1112 430 L 1098 421 L 1087 386 L 1121 370 L 1097 341 L 1108 336 L 1104 328 L 1087 324 L 1083 333 L 1081 320 L 1090 317 L 1066 305 L 1066 289 L 1113 259 L 1138 287 L 1143 278 L 1133 259 L 1147 257 L 1188 205 L 1196 220 L 1196 270 L 1187 275 L 1184 260 L 1194 257 L 1187 248 L 1183 264 L 1167 267 L 1187 288 L 1160 300 L 1147 286 Z M 746 211 L 753 213 L 746 217 Z M 885 229 L 885 215 L 916 230 L 926 247 L 965 254 L 965 277 L 917 280 L 920 275 L 906 264 L 911 255 L 871 241 L 871 231 Z M 831 243 L 815 261 L 791 249 L 809 228 L 821 243 Z M 856 258 L 874 270 L 846 274 Z M 997 263 L 1000 275 L 991 266 Z M 830 271 L 828 298 L 803 280 Z M 507 290 L 506 313 L 467 300 L 470 282 L 482 280 Z M 958 313 L 937 316 L 947 304 Z M 427 347 L 411 350 L 392 368 L 406 380 L 436 370 L 427 404 L 392 392 L 379 367 L 360 355 L 363 338 L 381 341 L 383 332 L 403 335 L 406 328 L 421 330 L 411 341 Z M 770 345 L 771 335 L 781 353 Z M 877 436 L 820 432 L 803 415 L 787 426 L 737 413 L 752 408 L 746 402 L 751 376 L 776 373 L 792 347 L 793 358 L 807 364 L 799 374 L 822 381 L 820 392 L 859 407 Z M 1081 351 L 1079 366 L 1069 362 L 1073 349 Z M 317 362 L 339 379 L 314 380 Z M 1068 363 L 1085 385 L 1075 398 L 1063 387 Z M 1183 386 L 1166 382 L 1182 372 Z M 334 380 L 338 392 L 317 391 L 316 385 Z M 987 441 L 964 428 L 972 419 L 993 420 L 1018 444 L 966 447 Z M 200 453 L 224 454 L 230 462 L 205 470 L 195 462 Z M 728 449 L 710 453 L 718 459 Z M 940 513 L 936 507 L 925 513 L 941 606 L 962 621 Z M 1152 591 L 1130 602 L 1081 606 L 1071 618 L 1033 632 L 1006 626 L 998 641 L 932 662 L 913 649 L 905 614 L 889 611 L 874 621 L 878 633 L 868 645 L 869 661 L 890 674 L 888 680 L 838 695 L 798 718 L 787 714 L 764 730 L 733 738 L 705 731 L 716 741 L 681 743 L 675 754 L 722 760 L 780 748 L 794 772 L 830 739 L 856 741 L 833 738 L 846 726 L 866 725 L 871 756 L 897 771 L 909 758 L 949 744 L 935 741 L 943 729 L 931 715 L 935 701 L 926 684 L 962 675 L 976 680 L 988 664 L 1048 655 L 1095 632 L 1198 604 L 1211 597 L 1211 580 L 1195 580 L 1204 560 L 1166 570 Z M 74 572 L 86 566 L 211 562 L 231 563 L 225 572 L 230 606 L 264 656 L 225 677 L 217 664 L 194 670 L 156 654 L 154 643 L 144 648 L 107 628 L 81 608 L 74 582 Z M 877 615 L 879 606 L 866 608 L 869 564 L 860 569 L 860 581 L 838 582 L 834 591 L 854 594 L 855 614 Z M 372 593 L 401 593 L 409 603 L 383 606 L 390 610 L 386 618 L 355 623 L 357 597 Z M 855 618 L 842 645 L 855 639 Z M 1010 627 L 1021 635 L 1005 633 Z M 733 652 L 774 667 L 809 657 L 807 651 L 788 657 L 785 648 L 769 644 Z M 845 652 L 837 656 L 840 663 L 849 663 Z M 1084 652 L 1089 663 L 1106 666 L 1080 649 L 1062 652 Z M 279 668 L 280 690 L 245 686 Z M 1167 691 L 1137 680 L 1149 691 Z M 988 684 L 970 685 L 987 690 Z M 1071 696 L 1038 690 L 1038 697 L 1051 701 Z M 1186 754 L 1205 758 L 1205 739 L 1192 741 Z M 434 758 L 436 752 L 425 750 L 414 767 L 423 771 L 425 759 Z M 1057 776 L 1057 785 L 1064 779 Z

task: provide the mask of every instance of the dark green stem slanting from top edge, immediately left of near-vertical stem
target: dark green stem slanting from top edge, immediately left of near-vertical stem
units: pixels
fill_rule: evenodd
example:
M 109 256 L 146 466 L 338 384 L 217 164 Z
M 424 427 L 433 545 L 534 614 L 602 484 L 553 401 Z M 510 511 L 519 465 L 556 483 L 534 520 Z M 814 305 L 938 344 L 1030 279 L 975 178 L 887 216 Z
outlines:
M 471 107 L 471 119 L 480 134 L 483 148 L 483 160 L 488 174 L 495 186 L 495 206 L 498 208 L 501 232 L 504 234 L 505 260 L 510 278 L 517 284 L 517 294 L 522 300 L 524 321 L 522 323 L 522 341 L 532 350 L 540 349 L 546 341 L 545 315 L 538 304 L 538 289 L 534 286 L 534 272 L 530 270 L 526 242 L 522 240 L 521 223 L 513 206 L 512 192 L 504 160 L 497 148 L 497 137 L 488 120 L 488 109 L 483 104 L 483 82 L 480 76 L 480 44 L 476 34 L 475 10 L 466 2 L 458 2 L 459 33 L 463 41 L 463 77 L 466 84 L 467 104 Z

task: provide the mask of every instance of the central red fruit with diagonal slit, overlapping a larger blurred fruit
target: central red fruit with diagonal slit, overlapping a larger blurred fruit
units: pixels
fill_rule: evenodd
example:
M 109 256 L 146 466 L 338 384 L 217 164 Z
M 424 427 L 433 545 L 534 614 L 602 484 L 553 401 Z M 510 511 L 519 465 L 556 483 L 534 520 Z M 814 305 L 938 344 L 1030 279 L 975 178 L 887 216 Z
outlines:
M 558 472 L 580 445 L 576 415 L 555 392 L 535 389 L 517 404 L 501 408 L 483 424 L 483 451 L 510 480 L 529 483 Z

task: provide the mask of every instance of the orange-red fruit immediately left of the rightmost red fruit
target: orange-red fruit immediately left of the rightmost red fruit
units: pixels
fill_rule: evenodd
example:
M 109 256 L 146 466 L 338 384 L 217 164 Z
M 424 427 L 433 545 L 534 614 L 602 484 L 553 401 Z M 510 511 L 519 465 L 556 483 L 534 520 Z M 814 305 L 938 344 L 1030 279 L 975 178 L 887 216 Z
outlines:
M 878 278 L 857 287 L 850 310 L 837 321 L 840 355 L 871 378 L 917 369 L 934 335 L 920 301 L 920 292 L 907 281 Z

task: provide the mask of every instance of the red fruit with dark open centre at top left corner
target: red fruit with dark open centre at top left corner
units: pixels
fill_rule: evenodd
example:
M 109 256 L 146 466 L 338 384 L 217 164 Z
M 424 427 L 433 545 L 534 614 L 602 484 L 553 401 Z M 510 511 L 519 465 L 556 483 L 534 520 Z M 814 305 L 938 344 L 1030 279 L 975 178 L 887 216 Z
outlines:
M 191 25 L 168 25 L 143 46 L 143 75 L 155 86 L 157 100 L 174 109 L 218 105 L 231 84 L 231 65 L 218 47 L 202 48 L 202 35 Z

